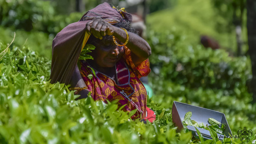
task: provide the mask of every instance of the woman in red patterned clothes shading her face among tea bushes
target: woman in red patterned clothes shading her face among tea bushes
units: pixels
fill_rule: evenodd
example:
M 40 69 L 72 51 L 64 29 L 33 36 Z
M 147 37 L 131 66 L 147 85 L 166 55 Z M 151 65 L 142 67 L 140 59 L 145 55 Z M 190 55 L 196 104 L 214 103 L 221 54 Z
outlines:
M 150 72 L 147 42 L 134 33 L 131 14 L 117 11 L 108 3 L 88 11 L 79 22 L 68 25 L 53 39 L 51 83 L 71 84 L 79 99 L 89 91 L 94 100 L 118 100 L 124 111 L 137 109 L 135 118 L 153 122 L 155 114 L 147 108 L 147 93 L 140 77 Z M 95 50 L 93 60 L 77 61 L 85 44 Z M 95 72 L 95 75 L 94 75 Z M 87 76 L 92 74 L 92 78 Z

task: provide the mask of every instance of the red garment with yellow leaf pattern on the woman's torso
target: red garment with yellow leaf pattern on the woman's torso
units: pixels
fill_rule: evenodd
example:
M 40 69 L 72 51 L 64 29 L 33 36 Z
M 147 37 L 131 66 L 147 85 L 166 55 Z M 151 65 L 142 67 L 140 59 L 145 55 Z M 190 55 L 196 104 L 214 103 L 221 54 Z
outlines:
M 123 111 L 132 111 L 137 108 L 132 119 L 140 117 L 144 121 L 148 119 L 153 122 L 156 115 L 147 108 L 147 91 L 139 80 L 150 73 L 149 60 L 147 59 L 135 67 L 131 60 L 131 51 L 125 46 L 125 54 L 116 63 L 115 68 L 117 83 L 107 75 L 98 72 L 86 61 L 81 61 L 80 73 L 88 90 L 92 92 L 92 98 L 104 102 L 118 100 L 118 108 L 125 105 Z M 95 75 L 92 69 L 94 69 Z M 93 75 L 92 79 L 87 77 L 89 74 Z

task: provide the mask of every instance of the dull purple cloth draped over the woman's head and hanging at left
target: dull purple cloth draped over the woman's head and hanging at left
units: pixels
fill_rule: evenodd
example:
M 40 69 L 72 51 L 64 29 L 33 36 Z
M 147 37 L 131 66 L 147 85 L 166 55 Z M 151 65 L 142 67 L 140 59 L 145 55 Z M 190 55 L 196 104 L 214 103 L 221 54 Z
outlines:
M 103 3 L 87 11 L 78 22 L 63 28 L 53 39 L 51 83 L 70 84 L 81 50 L 89 39 L 86 23 L 96 17 L 112 25 L 125 19 L 132 22 L 132 15 L 125 12 L 124 8 L 118 11 L 109 3 Z

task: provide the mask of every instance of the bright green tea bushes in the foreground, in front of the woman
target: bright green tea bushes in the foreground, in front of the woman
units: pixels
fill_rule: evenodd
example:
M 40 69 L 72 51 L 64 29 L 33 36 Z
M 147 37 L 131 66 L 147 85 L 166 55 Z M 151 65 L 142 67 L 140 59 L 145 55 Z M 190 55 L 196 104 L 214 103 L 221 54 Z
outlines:
M 1 51 L 6 47 L 6 44 L 0 44 Z M 190 132 L 176 132 L 171 103 L 164 101 L 168 98 L 165 91 L 155 96 L 159 101 L 148 100 L 147 106 L 156 112 L 156 121 L 145 125 L 139 119 L 132 121 L 132 112 L 127 114 L 117 110 L 115 102 L 105 104 L 91 97 L 75 101 L 78 95 L 74 95 L 74 91 L 69 91 L 64 84 L 50 84 L 49 75 L 49 58 L 39 56 L 28 47 L 9 47 L 0 60 L 1 143 L 200 143 L 192 138 Z M 189 91 L 189 88 L 176 86 L 175 83 L 170 83 L 166 88 L 168 86 L 174 91 Z M 204 89 L 201 91 L 209 93 Z M 186 98 L 186 92 L 181 92 L 179 97 L 172 96 L 172 101 L 197 102 L 196 98 Z M 206 95 L 206 99 L 211 98 Z M 218 100 L 203 102 L 214 105 Z M 202 103 L 199 102 L 199 105 L 202 106 Z M 254 125 L 251 129 L 255 130 L 255 124 L 244 114 L 226 116 L 231 129 Z M 226 138 L 225 143 L 231 143 L 231 140 L 239 143 L 239 139 L 234 138 Z

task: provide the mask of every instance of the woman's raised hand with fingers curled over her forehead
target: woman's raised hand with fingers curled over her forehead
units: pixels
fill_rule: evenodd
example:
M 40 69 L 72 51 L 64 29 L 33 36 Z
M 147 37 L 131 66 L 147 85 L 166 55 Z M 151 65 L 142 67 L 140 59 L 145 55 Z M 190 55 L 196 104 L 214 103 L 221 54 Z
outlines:
M 104 21 L 103 19 L 97 17 L 92 19 L 86 24 L 86 32 L 97 39 L 102 39 L 103 36 L 112 35 L 114 33 L 114 26 Z

